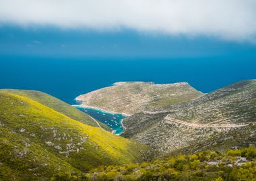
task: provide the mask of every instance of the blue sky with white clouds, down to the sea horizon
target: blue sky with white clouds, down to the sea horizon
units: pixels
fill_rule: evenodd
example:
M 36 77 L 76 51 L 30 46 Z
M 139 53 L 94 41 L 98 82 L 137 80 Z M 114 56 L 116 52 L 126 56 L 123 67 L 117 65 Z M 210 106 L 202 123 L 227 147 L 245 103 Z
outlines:
M 255 56 L 255 0 L 0 0 L 0 55 Z

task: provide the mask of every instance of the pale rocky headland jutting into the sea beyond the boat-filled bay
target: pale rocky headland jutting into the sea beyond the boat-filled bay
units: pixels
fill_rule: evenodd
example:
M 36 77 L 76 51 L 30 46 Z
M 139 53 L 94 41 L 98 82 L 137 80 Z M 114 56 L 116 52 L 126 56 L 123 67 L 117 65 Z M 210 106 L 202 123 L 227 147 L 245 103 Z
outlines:
M 79 95 L 76 100 L 82 101 L 82 106 L 85 107 L 133 115 L 141 111 L 151 111 L 191 101 L 202 95 L 203 93 L 195 90 L 187 82 L 174 84 L 116 82 L 114 86 Z

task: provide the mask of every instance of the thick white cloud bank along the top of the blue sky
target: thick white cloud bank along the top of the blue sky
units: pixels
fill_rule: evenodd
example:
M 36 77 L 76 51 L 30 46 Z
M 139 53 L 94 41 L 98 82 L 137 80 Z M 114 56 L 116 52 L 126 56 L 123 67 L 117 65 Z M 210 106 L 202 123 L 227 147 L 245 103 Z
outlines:
M 256 0 L 0 0 L 0 23 L 254 40 Z

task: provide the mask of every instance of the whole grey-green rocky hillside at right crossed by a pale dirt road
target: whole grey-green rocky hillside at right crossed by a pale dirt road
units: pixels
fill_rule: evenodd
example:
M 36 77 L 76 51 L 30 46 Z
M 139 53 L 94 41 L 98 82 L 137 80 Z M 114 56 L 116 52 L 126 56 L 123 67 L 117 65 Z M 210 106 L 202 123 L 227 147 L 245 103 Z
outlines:
M 256 80 L 238 82 L 199 99 L 124 119 L 123 137 L 158 154 L 256 145 Z

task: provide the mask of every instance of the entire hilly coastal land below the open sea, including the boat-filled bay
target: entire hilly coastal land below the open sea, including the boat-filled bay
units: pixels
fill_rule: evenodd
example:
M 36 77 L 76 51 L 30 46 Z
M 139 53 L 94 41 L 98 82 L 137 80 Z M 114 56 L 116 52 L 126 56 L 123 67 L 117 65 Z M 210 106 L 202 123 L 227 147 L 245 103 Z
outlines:
M 184 82 L 118 82 L 75 106 L 1 89 L 0 178 L 189 180 L 201 178 L 200 170 L 209 180 L 226 179 L 207 168 L 254 178 L 243 168 L 253 170 L 256 159 L 255 100 L 256 80 L 207 94 Z

